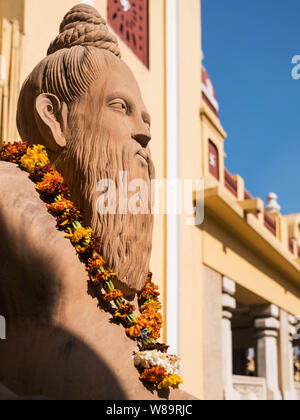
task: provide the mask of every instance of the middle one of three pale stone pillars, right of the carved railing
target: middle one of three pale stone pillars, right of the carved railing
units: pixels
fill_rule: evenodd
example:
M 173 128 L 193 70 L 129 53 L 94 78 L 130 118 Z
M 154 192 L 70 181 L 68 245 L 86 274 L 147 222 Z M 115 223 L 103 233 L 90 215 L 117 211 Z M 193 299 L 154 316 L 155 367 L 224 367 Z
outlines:
M 281 400 L 278 378 L 279 308 L 275 305 L 256 307 L 257 374 L 266 379 L 267 399 Z

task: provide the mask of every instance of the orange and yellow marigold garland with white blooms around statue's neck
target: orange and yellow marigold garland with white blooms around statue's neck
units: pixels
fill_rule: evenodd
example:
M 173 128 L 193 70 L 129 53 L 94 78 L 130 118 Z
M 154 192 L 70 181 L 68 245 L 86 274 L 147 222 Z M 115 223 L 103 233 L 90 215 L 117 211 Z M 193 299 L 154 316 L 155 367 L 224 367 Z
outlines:
M 139 349 L 134 353 L 136 366 L 141 369 L 141 379 L 155 385 L 158 390 L 178 388 L 182 383 L 178 375 L 179 359 L 168 355 L 168 346 L 157 343 L 162 328 L 161 303 L 158 286 L 152 282 L 149 273 L 146 285 L 138 294 L 140 316 L 136 318 L 135 306 L 123 299 L 120 290 L 115 289 L 116 274 L 105 264 L 101 256 L 101 239 L 96 238 L 90 227 L 82 226 L 83 216 L 70 200 L 71 194 L 63 177 L 50 165 L 44 146 L 29 147 L 26 142 L 3 144 L 0 160 L 19 164 L 30 174 L 48 211 L 56 218 L 57 227 L 66 233 L 81 260 L 85 263 L 90 281 L 104 289 L 104 300 L 113 302 L 113 319 L 126 327 L 128 337 L 136 339 Z M 161 355 L 161 356 L 160 356 Z

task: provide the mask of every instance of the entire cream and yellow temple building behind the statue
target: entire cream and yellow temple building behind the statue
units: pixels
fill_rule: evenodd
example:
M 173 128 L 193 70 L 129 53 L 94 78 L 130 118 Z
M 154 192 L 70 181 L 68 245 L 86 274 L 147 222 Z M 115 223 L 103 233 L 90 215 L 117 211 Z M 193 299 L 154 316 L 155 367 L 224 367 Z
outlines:
M 19 139 L 20 87 L 78 2 L 0 0 L 0 144 Z M 204 180 L 204 200 L 195 193 L 189 203 L 204 206 L 203 223 L 170 211 L 180 206 L 176 189 L 171 197 L 162 188 L 155 215 L 162 341 L 181 356 L 182 389 L 207 400 L 300 400 L 300 213 L 281 214 L 276 194 L 265 205 L 226 169 L 200 0 L 83 3 L 107 19 L 141 86 L 156 178 Z

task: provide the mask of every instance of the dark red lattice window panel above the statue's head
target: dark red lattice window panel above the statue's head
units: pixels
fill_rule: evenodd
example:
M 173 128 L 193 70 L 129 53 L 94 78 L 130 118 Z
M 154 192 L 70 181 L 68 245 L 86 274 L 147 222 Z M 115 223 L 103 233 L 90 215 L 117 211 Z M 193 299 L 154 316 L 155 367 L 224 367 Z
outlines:
M 149 68 L 149 0 L 108 0 L 107 20 Z

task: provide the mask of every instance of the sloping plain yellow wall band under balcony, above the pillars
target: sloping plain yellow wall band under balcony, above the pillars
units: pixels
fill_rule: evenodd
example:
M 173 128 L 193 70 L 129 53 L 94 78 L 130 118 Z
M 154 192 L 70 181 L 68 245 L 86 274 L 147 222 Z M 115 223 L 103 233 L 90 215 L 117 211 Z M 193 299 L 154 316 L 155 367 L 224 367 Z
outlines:
M 267 302 L 299 315 L 300 290 L 288 278 L 251 251 L 239 238 L 206 214 L 203 262 Z

